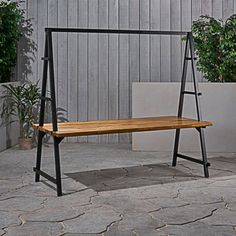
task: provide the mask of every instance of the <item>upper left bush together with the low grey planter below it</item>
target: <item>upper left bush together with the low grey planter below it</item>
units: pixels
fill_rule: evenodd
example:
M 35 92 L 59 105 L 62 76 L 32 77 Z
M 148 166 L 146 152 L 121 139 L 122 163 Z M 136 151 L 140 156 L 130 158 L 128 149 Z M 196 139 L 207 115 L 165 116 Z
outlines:
M 31 38 L 33 32 L 31 19 L 25 19 L 22 2 L 0 1 L 0 97 L 6 90 L 4 84 L 17 86 L 19 82 L 14 81 L 25 81 L 32 73 L 31 62 L 35 59 L 34 53 L 37 47 Z M 20 70 L 14 76 L 16 63 Z M 1 107 L 0 99 L 0 109 Z M 2 123 L 1 118 L 0 123 Z M 17 143 L 15 138 L 19 133 L 17 126 L 2 125 L 0 133 L 0 151 Z

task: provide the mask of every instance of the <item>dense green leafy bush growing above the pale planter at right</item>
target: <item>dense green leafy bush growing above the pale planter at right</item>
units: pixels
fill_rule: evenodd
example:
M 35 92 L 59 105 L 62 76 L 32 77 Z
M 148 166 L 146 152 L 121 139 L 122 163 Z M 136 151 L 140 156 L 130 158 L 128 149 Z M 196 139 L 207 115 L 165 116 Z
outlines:
M 193 22 L 197 68 L 211 82 L 236 82 L 236 15 L 225 23 L 201 16 Z

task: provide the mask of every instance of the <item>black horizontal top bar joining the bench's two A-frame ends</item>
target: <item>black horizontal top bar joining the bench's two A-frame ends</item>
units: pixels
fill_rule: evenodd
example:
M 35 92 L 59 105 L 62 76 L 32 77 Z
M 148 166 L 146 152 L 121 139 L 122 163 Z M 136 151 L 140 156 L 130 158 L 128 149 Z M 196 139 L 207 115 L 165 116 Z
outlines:
M 88 28 L 45 28 L 50 32 L 65 33 L 107 33 L 107 34 L 159 34 L 159 35 L 186 35 L 187 31 L 158 31 L 158 30 L 121 30 L 121 29 L 88 29 Z

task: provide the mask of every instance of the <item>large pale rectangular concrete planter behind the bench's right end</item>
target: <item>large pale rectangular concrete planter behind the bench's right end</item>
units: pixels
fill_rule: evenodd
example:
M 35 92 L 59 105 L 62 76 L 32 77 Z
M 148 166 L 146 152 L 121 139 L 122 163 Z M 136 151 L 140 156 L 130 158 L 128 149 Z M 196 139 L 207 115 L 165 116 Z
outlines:
M 191 91 L 192 84 L 187 84 Z M 236 152 L 236 83 L 199 83 L 203 120 L 213 126 L 205 130 L 208 152 Z M 180 83 L 134 83 L 133 117 L 176 115 Z M 183 116 L 196 118 L 194 96 L 186 95 Z M 133 133 L 133 150 L 172 151 L 174 130 Z M 180 151 L 199 151 L 194 129 L 181 131 Z

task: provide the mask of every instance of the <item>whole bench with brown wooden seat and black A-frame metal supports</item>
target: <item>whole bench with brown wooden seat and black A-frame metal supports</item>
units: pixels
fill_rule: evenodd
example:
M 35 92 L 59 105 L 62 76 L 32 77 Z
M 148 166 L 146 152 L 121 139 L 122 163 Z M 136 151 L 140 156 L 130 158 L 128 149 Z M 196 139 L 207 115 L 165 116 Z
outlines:
M 57 195 L 62 195 L 61 186 L 61 167 L 60 167 L 60 152 L 59 144 L 64 137 L 71 136 L 87 136 L 87 135 L 100 135 L 100 134 L 113 134 L 113 133 L 126 133 L 126 132 L 142 132 L 142 131 L 155 131 L 155 130 L 170 130 L 175 129 L 175 142 L 173 151 L 172 166 L 176 166 L 177 157 L 189 160 L 203 165 L 205 177 L 209 177 L 207 161 L 204 128 L 211 126 L 211 122 L 202 121 L 199 96 L 201 93 L 198 91 L 197 80 L 195 77 L 195 55 L 194 55 L 194 43 L 193 35 L 191 32 L 177 32 L 177 31 L 153 31 L 153 30 L 116 30 L 116 29 L 77 29 L 77 28 L 46 28 L 45 38 L 45 51 L 43 63 L 43 80 L 42 80 L 42 94 L 41 94 L 41 106 L 39 124 L 34 124 L 33 127 L 38 130 L 38 147 L 36 157 L 35 181 L 40 181 L 40 176 L 48 179 L 57 186 Z M 181 89 L 179 97 L 179 107 L 177 116 L 162 116 L 162 117 L 147 117 L 147 118 L 132 118 L 125 120 L 96 120 L 96 121 L 82 121 L 82 122 L 57 122 L 57 110 L 56 110 L 56 93 L 55 93 L 55 79 L 54 79 L 54 66 L 53 66 L 53 40 L 52 33 L 107 33 L 107 34 L 147 34 L 147 35 L 180 35 L 186 36 L 186 46 L 184 52 L 183 72 L 181 77 Z M 191 63 L 193 91 L 186 91 L 186 75 L 187 64 Z M 49 72 L 49 73 L 48 73 Z M 48 76 L 49 75 L 49 76 Z M 50 98 L 46 98 L 47 82 L 50 82 Z M 183 104 L 185 95 L 195 96 L 195 107 L 197 118 L 184 118 L 183 117 Z M 60 95 L 59 95 L 60 96 Z M 45 101 L 51 102 L 52 108 L 52 123 L 44 123 L 45 115 Z M 129 101 L 127 101 L 129 102 Z M 202 160 L 193 158 L 178 152 L 180 130 L 186 128 L 197 129 L 200 136 L 200 146 L 202 152 Z M 49 174 L 41 170 L 41 157 L 42 157 L 42 143 L 45 134 L 49 134 L 53 137 L 54 143 L 54 158 L 55 158 L 55 170 L 56 177 L 52 177 Z

